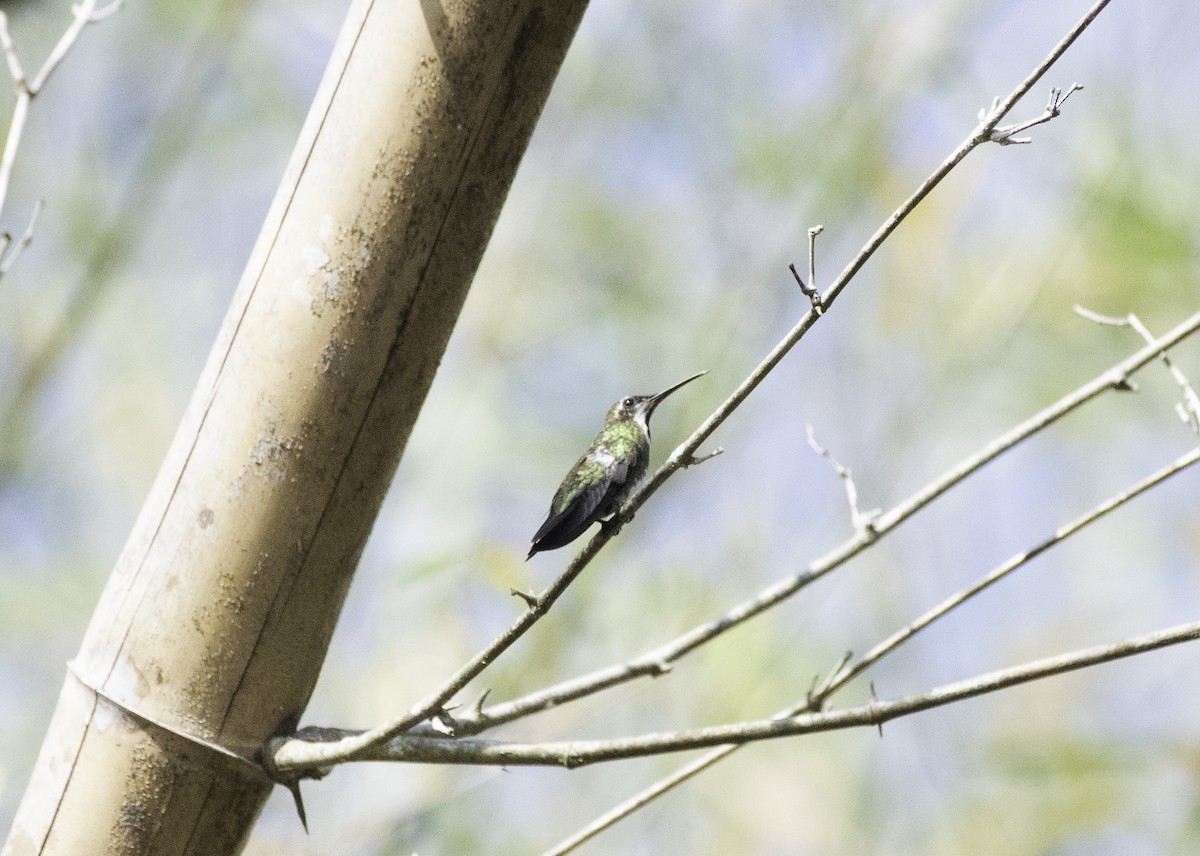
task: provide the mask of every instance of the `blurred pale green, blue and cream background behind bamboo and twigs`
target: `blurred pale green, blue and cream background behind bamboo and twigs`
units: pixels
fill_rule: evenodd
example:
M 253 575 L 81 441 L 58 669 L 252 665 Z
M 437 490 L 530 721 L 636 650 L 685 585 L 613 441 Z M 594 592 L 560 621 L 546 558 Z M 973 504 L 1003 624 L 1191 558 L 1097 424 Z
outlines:
M 0 828 L 212 342 L 346 0 L 130 2 L 35 102 L 0 228 Z M 570 558 L 524 563 L 610 403 L 710 375 L 661 461 L 1082 14 L 1037 0 L 594 0 L 376 526 L 306 723 L 367 726 L 436 686 Z M 67 2 L 4 2 L 26 70 Z M 480 687 L 503 700 L 710 619 L 1165 331 L 1200 298 L 1200 5 L 1114 2 Z M 0 85 L 7 124 L 12 95 Z M 1200 342 L 1176 352 L 1200 383 Z M 781 609 L 678 665 L 499 732 L 604 737 L 768 716 L 844 651 L 1196 441 L 1158 367 L 1010 453 Z M 881 698 L 1196 618 L 1200 473 L 1126 507 L 870 672 Z M 582 852 L 1195 852 L 1200 648 L 874 730 L 749 748 Z M 869 698 L 865 680 L 838 705 Z M 247 852 L 529 854 L 682 758 L 576 772 L 352 766 L 272 796 Z

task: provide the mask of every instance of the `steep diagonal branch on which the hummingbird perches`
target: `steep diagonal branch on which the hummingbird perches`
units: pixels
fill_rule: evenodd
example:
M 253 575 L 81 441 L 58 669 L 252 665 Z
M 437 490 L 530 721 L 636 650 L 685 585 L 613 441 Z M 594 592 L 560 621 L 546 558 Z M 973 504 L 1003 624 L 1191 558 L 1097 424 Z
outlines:
M 952 155 L 943 161 L 934 173 L 926 178 L 920 186 L 908 197 L 893 214 L 876 229 L 875 234 L 868 239 L 866 244 L 851 259 L 850 264 L 838 275 L 828 289 L 821 295 L 818 311 L 816 306 L 809 309 L 797 324 L 784 336 L 779 343 L 767 354 L 767 357 L 750 372 L 750 375 L 730 394 L 730 396 L 684 441 L 666 462 L 650 477 L 650 479 L 636 490 L 620 511 L 613 517 L 612 525 L 602 527 L 593 535 L 592 540 L 571 559 L 566 570 L 559 575 L 554 582 L 538 598 L 538 605 L 523 612 L 509 628 L 500 634 L 491 645 L 480 651 L 439 689 L 410 707 L 404 714 L 391 723 L 386 723 L 355 737 L 344 738 L 332 744 L 314 744 L 304 741 L 295 746 L 288 746 L 286 737 L 272 740 L 265 750 L 275 754 L 276 766 L 280 770 L 302 768 L 306 766 L 326 766 L 332 762 L 350 761 L 364 758 L 365 754 L 396 735 L 408 731 L 413 726 L 424 723 L 436 712 L 443 710 L 446 702 L 454 698 L 472 680 L 479 676 L 487 665 L 506 651 L 517 639 L 533 627 L 562 595 L 566 587 L 582 573 L 583 568 L 604 547 L 608 540 L 619 532 L 622 525 L 628 522 L 642 504 L 649 499 L 654 492 L 662 486 L 671 475 L 685 466 L 690 466 L 697 460 L 696 450 L 712 433 L 736 411 L 743 401 L 762 383 L 770 371 L 779 365 L 780 360 L 796 346 L 797 342 L 817 322 L 822 313 L 829 309 L 839 294 L 850 285 L 850 281 L 862 269 L 866 261 L 875 255 L 884 240 L 896 229 L 896 227 L 912 212 L 912 210 L 936 187 L 942 179 L 972 150 L 991 140 L 992 131 L 1001 119 L 1012 107 L 1026 94 L 1046 72 L 1050 65 L 1062 55 L 1072 42 L 1091 23 L 1092 18 L 1108 5 L 1109 0 L 1099 0 L 1092 11 L 1051 50 L 1050 55 L 1020 84 L 1003 102 L 997 104 L 989 114 L 988 119 L 972 131 L 972 133 L 959 144 Z M 862 546 L 853 552 L 858 552 Z M 848 557 L 848 556 L 847 556 Z M 822 571 L 823 573 L 823 571 Z M 794 589 L 793 589 L 794 591 Z M 784 595 L 786 597 L 786 595 Z

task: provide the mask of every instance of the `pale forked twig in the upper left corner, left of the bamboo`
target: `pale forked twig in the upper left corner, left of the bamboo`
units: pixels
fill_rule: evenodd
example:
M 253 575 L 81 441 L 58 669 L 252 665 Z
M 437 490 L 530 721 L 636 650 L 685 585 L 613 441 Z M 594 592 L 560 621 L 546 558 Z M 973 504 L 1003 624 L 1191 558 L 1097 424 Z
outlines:
M 12 120 L 8 125 L 8 137 L 5 139 L 4 154 L 0 155 L 0 215 L 4 214 L 5 202 L 8 198 L 8 184 L 12 180 L 12 169 L 17 162 L 17 149 L 20 145 L 22 134 L 25 132 L 25 122 L 29 119 L 29 106 L 32 103 L 34 98 L 42 91 L 46 86 L 46 82 L 49 80 L 50 74 L 54 70 L 59 67 L 64 58 L 74 46 L 76 41 L 79 38 L 79 34 L 83 29 L 91 23 L 102 20 L 108 16 L 116 12 L 121 6 L 122 0 L 115 0 L 115 2 L 104 6 L 103 8 L 96 8 L 96 0 L 82 0 L 77 6 L 73 6 L 71 12 L 74 19 L 71 25 L 67 26 L 62 37 L 59 38 L 58 44 L 50 50 L 46 61 L 42 62 L 42 67 L 38 68 L 34 79 L 30 80 L 25 77 L 25 71 L 22 67 L 20 59 L 17 56 L 17 50 L 12 43 L 12 36 L 8 34 L 8 17 L 0 12 L 0 50 L 4 52 L 5 62 L 8 66 L 8 74 L 12 77 L 13 86 L 17 90 L 17 103 L 12 109 Z M 34 239 L 34 227 L 37 222 L 37 212 L 41 208 L 41 203 L 35 206 L 34 215 L 30 217 L 29 227 L 25 229 L 25 235 L 20 241 L 12 247 L 12 253 L 0 263 L 0 276 L 8 273 L 8 269 L 16 262 L 16 257 L 19 256 L 30 241 Z M 5 244 L 5 251 L 8 250 L 8 244 Z

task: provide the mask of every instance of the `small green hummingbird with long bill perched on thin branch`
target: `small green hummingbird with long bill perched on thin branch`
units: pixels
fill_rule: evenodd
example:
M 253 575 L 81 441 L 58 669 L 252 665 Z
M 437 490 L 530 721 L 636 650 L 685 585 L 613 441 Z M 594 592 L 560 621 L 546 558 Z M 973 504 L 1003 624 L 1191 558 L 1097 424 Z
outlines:
M 533 537 L 535 552 L 557 550 L 582 535 L 592 523 L 614 515 L 650 468 L 650 414 L 659 403 L 702 371 L 656 395 L 630 395 L 608 408 L 604 429 L 592 441 L 554 491 L 546 522 Z

